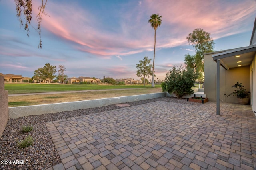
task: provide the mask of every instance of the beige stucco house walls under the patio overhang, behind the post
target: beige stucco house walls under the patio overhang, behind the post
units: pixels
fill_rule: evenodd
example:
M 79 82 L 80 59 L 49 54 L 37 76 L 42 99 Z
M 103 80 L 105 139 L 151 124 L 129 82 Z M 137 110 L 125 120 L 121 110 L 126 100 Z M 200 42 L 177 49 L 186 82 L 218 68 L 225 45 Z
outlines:
M 216 101 L 216 72 L 217 63 L 213 61 L 212 55 L 215 53 L 208 53 L 204 55 L 204 93 L 210 101 Z M 220 67 L 220 102 L 238 103 L 236 96 L 226 97 L 224 94 L 234 92 L 232 88 L 236 82 L 242 83 L 244 88 L 250 91 L 250 66 L 230 68 L 226 70 Z

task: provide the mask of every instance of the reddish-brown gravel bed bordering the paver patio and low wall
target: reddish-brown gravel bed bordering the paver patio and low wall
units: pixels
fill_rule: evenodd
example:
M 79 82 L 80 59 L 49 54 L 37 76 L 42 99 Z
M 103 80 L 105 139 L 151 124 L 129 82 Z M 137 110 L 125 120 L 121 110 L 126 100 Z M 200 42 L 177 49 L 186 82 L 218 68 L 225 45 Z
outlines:
M 136 102 L 129 102 L 126 104 L 129 104 L 130 106 L 136 106 L 155 101 L 200 105 L 200 103 L 187 102 L 186 99 L 178 99 L 172 97 L 154 98 Z M 60 157 L 58 156 L 58 152 L 54 147 L 50 134 L 48 133 L 48 129 L 46 128 L 46 122 L 120 108 L 121 107 L 116 105 L 109 105 L 91 109 L 80 109 L 76 111 L 65 111 L 54 114 L 32 115 L 28 117 L 20 117 L 17 119 L 9 119 L 6 128 L 2 134 L 2 137 L 0 138 L 0 169 L 43 170 L 60 163 Z M 21 133 L 20 129 L 24 125 L 32 125 L 34 127 L 33 131 L 28 133 Z M 24 149 L 20 149 L 17 146 L 17 142 L 23 140 L 28 135 L 31 135 L 34 138 L 33 145 Z M 14 161 L 20 162 L 14 164 Z

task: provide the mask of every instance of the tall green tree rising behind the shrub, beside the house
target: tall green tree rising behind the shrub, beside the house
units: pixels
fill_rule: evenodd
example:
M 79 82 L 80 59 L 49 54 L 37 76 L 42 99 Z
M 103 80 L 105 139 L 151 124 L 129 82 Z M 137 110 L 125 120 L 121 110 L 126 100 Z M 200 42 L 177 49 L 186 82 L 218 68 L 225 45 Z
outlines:
M 189 45 L 196 49 L 196 54 L 192 56 L 185 55 L 185 64 L 188 68 L 192 68 L 198 73 L 199 88 L 201 80 L 204 79 L 204 53 L 212 52 L 214 49 L 215 43 L 210 35 L 203 29 L 197 28 L 186 37 Z

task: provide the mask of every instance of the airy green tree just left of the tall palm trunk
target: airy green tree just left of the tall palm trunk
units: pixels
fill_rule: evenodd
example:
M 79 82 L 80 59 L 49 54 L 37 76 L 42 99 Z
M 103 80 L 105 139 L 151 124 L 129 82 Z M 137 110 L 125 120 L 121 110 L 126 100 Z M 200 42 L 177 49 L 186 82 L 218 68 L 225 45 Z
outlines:
M 136 64 L 136 68 L 137 68 L 137 73 L 136 75 L 138 77 L 143 76 L 143 83 L 145 86 L 145 77 L 150 77 L 150 75 L 152 75 L 152 64 L 150 64 L 151 59 L 148 59 L 147 56 L 144 57 L 143 60 L 139 60 L 139 64 Z

